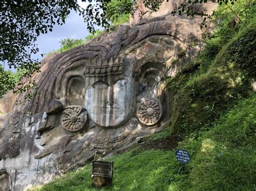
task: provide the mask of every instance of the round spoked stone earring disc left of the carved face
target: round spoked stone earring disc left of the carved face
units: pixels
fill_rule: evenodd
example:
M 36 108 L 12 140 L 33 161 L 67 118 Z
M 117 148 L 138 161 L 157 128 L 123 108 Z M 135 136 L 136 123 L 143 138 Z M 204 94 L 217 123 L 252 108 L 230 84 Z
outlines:
M 63 128 L 68 132 L 82 130 L 87 121 L 87 111 L 80 106 L 72 105 L 64 109 L 62 114 Z

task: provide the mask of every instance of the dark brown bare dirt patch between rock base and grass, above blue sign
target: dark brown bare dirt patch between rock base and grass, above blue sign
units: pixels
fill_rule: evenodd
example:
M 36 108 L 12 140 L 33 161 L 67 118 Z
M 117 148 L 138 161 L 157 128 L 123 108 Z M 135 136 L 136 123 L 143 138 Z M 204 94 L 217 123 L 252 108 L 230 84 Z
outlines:
M 170 135 L 167 137 L 152 140 L 140 145 L 142 150 L 150 149 L 162 149 L 162 150 L 173 150 L 178 146 L 178 143 L 183 140 L 183 135 Z

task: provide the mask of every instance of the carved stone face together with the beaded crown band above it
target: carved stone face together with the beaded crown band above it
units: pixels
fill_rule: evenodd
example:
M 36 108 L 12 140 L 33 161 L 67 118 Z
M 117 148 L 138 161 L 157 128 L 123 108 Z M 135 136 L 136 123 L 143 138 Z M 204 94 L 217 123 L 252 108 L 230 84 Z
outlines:
M 103 127 L 117 128 L 130 117 L 134 80 L 124 78 L 123 63 L 99 62 L 86 66 L 85 108 L 92 121 Z M 127 71 L 130 72 L 130 71 Z

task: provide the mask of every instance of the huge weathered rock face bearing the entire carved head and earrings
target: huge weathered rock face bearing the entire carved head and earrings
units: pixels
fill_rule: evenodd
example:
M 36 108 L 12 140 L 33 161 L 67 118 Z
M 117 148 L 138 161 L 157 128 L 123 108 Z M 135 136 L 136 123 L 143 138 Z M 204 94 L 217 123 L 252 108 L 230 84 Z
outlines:
M 11 91 L 0 100 L 0 169 L 10 172 L 0 185 L 46 183 L 161 130 L 170 115 L 165 79 L 202 47 L 200 22 L 166 15 L 123 25 L 44 59 L 31 101 L 16 105 L 25 93 Z

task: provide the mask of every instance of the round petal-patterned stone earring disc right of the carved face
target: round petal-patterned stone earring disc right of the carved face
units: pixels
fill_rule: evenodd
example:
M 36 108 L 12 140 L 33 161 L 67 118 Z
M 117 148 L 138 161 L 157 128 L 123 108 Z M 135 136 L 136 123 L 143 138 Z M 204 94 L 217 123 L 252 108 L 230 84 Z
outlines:
M 150 98 L 142 102 L 137 111 L 138 119 L 146 126 L 156 125 L 163 115 L 159 100 Z

